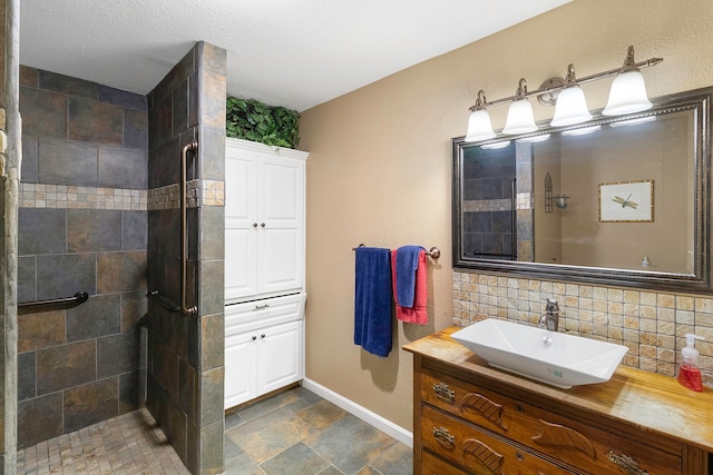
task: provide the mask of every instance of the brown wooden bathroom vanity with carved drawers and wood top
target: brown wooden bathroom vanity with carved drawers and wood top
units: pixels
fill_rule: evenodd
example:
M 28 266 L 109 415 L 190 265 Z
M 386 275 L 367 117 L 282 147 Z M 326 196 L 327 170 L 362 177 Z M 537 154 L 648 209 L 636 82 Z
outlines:
M 619 366 L 558 389 L 494 369 L 450 335 L 413 354 L 414 474 L 711 474 L 713 392 Z

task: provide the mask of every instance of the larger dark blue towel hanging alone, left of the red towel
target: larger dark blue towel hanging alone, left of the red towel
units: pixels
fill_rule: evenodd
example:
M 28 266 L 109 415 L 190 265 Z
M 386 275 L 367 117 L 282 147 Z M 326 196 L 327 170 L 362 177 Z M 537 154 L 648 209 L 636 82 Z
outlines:
M 358 247 L 354 251 L 354 344 L 385 357 L 391 352 L 390 250 Z

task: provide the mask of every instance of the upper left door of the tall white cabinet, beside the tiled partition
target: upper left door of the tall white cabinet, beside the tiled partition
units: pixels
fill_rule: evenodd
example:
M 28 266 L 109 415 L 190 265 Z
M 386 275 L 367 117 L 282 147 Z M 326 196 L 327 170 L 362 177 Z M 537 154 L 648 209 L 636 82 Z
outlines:
M 226 147 L 225 299 L 257 294 L 257 155 Z

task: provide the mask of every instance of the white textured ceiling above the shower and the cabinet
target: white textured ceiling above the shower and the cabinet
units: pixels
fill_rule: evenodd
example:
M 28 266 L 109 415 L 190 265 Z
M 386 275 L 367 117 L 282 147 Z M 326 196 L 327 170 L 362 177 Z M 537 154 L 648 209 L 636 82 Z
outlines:
M 20 62 L 149 92 L 196 41 L 227 92 L 299 111 L 570 0 L 22 0 Z

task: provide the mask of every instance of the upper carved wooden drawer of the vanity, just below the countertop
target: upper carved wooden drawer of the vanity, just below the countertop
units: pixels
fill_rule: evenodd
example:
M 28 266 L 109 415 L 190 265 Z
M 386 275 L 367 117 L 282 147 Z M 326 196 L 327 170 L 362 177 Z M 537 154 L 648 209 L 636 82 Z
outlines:
M 673 446 L 677 455 L 666 453 L 427 368 L 421 383 L 423 402 L 585 473 L 627 473 L 623 466 L 651 474 L 681 473 L 680 445 Z

